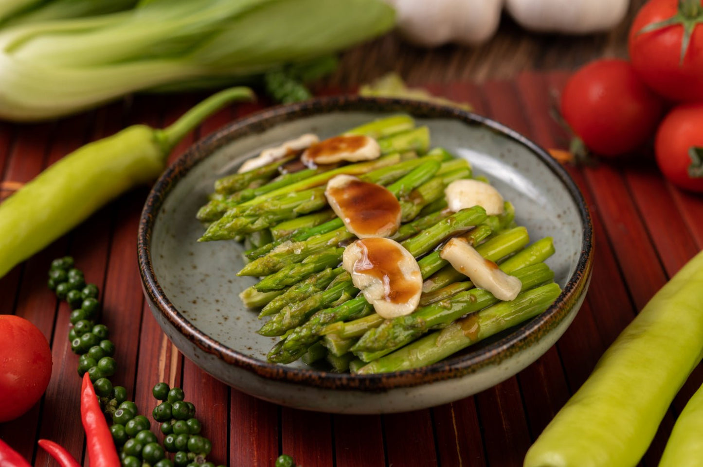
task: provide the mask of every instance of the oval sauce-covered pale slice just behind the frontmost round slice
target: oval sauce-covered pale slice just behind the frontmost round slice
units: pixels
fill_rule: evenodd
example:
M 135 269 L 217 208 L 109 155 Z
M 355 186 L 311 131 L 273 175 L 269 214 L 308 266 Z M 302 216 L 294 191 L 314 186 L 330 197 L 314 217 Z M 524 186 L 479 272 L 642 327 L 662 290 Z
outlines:
M 400 225 L 400 202 L 387 188 L 350 175 L 327 183 L 325 197 L 333 211 L 356 237 L 389 237 Z

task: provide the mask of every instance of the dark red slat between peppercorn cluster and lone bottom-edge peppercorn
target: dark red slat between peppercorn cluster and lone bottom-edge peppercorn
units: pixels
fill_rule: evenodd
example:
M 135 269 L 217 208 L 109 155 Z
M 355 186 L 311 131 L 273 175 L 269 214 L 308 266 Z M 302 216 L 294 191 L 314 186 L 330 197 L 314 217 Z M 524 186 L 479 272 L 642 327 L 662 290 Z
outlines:
M 276 404 L 230 390 L 229 465 L 270 467 L 278 457 Z

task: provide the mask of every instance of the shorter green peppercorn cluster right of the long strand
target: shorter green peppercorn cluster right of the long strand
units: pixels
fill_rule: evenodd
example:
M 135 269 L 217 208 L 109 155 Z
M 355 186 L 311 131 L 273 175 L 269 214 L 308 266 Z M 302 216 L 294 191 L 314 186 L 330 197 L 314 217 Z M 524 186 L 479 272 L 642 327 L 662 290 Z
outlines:
M 195 406 L 186 402 L 181 388 L 169 388 L 166 383 L 157 383 L 152 393 L 161 403 L 154 407 L 152 415 L 161 423 L 161 432 L 166 435 L 164 447 L 174 453 L 176 467 L 215 467 L 207 461 L 212 449 L 210 440 L 200 435 L 202 426 L 195 418 Z

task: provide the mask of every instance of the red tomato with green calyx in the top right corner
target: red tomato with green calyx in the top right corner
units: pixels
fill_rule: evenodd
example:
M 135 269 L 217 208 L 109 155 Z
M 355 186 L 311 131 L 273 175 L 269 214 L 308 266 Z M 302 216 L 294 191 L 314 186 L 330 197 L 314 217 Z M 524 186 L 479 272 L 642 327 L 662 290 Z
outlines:
M 683 61 L 681 23 L 642 32 L 644 27 L 673 18 L 677 13 L 679 0 L 648 1 L 630 29 L 630 60 L 640 78 L 661 96 L 671 100 L 703 100 L 703 25 L 695 25 Z M 685 0 L 681 14 L 703 21 L 701 0 Z

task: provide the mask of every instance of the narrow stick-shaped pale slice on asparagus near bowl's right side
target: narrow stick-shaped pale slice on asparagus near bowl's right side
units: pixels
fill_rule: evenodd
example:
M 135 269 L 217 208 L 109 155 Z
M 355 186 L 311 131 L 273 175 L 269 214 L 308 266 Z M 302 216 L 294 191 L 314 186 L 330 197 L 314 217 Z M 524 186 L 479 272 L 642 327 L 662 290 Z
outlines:
M 515 300 L 520 293 L 520 279 L 505 274 L 496 263 L 481 256 L 465 239 L 450 239 L 439 256 L 449 261 L 454 269 L 467 275 L 476 287 L 486 289 L 499 300 Z

